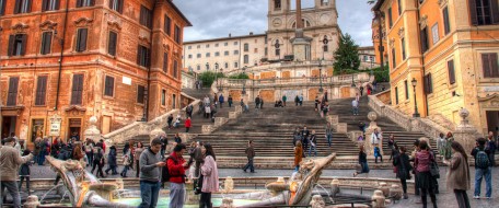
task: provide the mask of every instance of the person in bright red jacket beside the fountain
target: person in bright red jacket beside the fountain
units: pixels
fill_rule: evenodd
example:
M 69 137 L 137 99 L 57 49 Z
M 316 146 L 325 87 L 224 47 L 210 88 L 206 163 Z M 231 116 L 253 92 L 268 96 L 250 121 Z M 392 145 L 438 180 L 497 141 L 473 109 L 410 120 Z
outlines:
M 182 157 L 187 148 L 178 143 L 172 154 L 166 158 L 166 166 L 163 169 L 163 181 L 170 182 L 170 207 L 184 207 L 185 198 L 185 170 L 190 164 Z

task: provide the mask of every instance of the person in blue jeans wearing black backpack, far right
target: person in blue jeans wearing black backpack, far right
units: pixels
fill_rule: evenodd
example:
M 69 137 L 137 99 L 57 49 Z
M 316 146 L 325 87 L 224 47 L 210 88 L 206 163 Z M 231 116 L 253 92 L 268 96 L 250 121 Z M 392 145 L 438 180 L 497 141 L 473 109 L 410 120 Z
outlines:
M 474 199 L 480 198 L 481 178 L 485 177 L 486 194 L 485 198 L 491 199 L 492 196 L 492 178 L 491 178 L 491 162 L 489 160 L 490 150 L 485 148 L 485 138 L 478 138 L 476 148 L 473 149 L 472 155 L 475 158 L 475 194 Z

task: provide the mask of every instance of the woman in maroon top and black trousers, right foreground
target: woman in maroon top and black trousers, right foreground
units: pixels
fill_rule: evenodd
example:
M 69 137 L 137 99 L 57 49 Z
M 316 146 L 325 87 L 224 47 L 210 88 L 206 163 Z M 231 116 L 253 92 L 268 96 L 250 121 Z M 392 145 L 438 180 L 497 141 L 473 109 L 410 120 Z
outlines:
M 437 208 L 437 196 L 434 195 L 434 183 L 433 176 L 430 172 L 430 165 L 434 162 L 434 157 L 430 153 L 428 143 L 426 141 L 419 141 L 420 151 L 416 153 L 415 167 L 417 171 L 418 184 L 421 194 L 422 207 L 427 208 L 427 194 L 430 194 L 431 203 L 433 208 Z

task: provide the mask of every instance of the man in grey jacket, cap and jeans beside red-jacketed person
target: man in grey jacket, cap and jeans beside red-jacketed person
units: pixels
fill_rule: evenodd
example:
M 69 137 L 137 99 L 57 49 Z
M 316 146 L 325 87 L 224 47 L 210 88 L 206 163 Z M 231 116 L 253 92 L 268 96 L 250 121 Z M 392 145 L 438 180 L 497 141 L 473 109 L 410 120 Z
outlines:
M 161 162 L 161 140 L 154 138 L 151 146 L 140 154 L 140 197 L 142 203 L 139 208 L 154 208 L 160 195 L 160 167 L 166 165 Z M 139 172 L 139 170 L 137 170 Z

